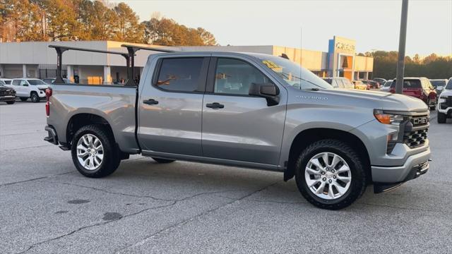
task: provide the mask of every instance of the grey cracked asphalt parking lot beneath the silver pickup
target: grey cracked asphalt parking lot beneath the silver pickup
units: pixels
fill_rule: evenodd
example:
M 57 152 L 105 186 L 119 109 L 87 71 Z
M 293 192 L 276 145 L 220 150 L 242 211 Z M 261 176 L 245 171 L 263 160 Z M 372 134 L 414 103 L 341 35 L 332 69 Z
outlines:
M 42 139 L 44 103 L 0 104 L 0 253 L 451 253 L 452 121 L 429 172 L 320 210 L 269 171 L 133 156 L 88 179 Z

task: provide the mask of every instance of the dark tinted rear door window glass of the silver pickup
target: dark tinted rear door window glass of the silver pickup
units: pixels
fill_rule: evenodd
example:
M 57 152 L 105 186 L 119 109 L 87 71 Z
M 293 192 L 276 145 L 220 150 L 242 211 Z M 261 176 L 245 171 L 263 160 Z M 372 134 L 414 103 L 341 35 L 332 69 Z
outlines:
M 201 81 L 203 58 L 163 59 L 156 86 L 162 90 L 195 92 Z

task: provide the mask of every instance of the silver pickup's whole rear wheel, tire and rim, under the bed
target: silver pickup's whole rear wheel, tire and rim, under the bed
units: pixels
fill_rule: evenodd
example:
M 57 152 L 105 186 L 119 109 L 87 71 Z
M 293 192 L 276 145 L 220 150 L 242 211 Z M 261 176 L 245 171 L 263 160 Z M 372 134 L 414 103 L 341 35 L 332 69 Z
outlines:
M 71 155 L 76 169 L 90 178 L 100 178 L 112 174 L 121 159 L 114 140 L 100 125 L 80 128 L 74 135 Z

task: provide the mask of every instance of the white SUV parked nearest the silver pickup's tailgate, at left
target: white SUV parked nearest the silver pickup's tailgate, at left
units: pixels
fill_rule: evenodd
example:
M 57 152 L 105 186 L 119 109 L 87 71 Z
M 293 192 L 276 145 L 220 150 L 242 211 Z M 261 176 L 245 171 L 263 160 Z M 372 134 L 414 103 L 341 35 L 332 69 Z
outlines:
M 40 102 L 41 98 L 45 98 L 45 90 L 48 85 L 44 81 L 37 78 L 14 78 L 8 87 L 16 90 L 16 97 L 25 102 L 31 98 L 32 102 Z

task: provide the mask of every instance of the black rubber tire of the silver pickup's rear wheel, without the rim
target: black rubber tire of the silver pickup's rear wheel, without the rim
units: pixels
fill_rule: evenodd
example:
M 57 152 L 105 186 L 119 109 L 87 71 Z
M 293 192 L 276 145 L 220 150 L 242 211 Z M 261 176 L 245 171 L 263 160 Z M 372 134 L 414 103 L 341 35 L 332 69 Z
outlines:
M 102 162 L 100 163 L 100 166 L 95 170 L 85 169 L 85 167 L 83 167 L 83 165 L 78 162 L 77 157 L 78 140 L 83 135 L 88 133 L 98 138 L 102 143 L 102 147 L 104 148 Z M 119 152 L 117 150 L 117 147 L 115 146 L 113 137 L 103 126 L 95 124 L 83 126 L 82 128 L 78 129 L 76 134 L 73 136 L 71 155 L 72 162 L 76 166 L 76 169 L 81 174 L 83 174 L 83 176 L 90 178 L 101 178 L 112 174 L 118 168 L 119 163 L 121 162 Z

